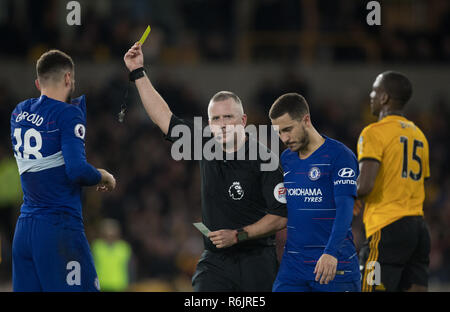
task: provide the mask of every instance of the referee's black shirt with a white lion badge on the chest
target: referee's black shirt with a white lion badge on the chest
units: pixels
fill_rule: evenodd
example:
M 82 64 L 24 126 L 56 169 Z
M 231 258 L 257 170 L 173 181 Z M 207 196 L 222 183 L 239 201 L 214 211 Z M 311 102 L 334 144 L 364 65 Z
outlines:
M 182 135 L 173 136 L 172 129 L 176 125 L 186 125 L 191 131 L 193 142 L 194 124 L 172 115 L 166 139 L 175 142 Z M 200 133 L 197 129 L 197 133 Z M 202 146 L 211 138 L 202 138 Z M 245 160 L 200 160 L 201 197 L 203 223 L 211 231 L 221 229 L 238 229 L 253 224 L 267 213 L 282 217 L 287 216 L 286 205 L 280 202 L 274 192 L 283 182 L 280 166 L 274 171 L 261 171 L 259 152 L 256 160 L 249 160 L 249 140 L 241 148 L 246 149 Z M 265 148 L 261 143 L 258 148 Z M 192 143 L 193 145 L 193 143 Z M 193 155 L 193 146 L 192 146 Z M 194 158 L 191 158 L 194 159 Z M 209 238 L 203 237 L 205 249 L 211 251 L 270 246 L 275 243 L 275 235 L 260 239 L 248 240 L 229 248 L 217 249 Z

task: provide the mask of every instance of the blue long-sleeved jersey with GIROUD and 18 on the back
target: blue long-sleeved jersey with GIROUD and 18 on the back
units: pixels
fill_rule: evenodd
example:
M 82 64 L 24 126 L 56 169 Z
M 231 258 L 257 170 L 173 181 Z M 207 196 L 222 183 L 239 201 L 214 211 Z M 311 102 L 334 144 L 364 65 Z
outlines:
M 86 161 L 86 101 L 71 104 L 45 95 L 19 103 L 11 114 L 11 140 L 19 169 L 21 213 L 66 212 L 82 219 L 81 188 L 100 172 Z

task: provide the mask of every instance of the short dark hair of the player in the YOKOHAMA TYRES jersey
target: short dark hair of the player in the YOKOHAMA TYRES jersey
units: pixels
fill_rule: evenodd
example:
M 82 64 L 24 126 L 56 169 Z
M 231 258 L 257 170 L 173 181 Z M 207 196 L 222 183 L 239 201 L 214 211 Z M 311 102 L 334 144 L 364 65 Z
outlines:
M 305 98 L 298 93 L 286 93 L 280 96 L 272 104 L 269 110 L 269 118 L 276 119 L 288 113 L 292 119 L 301 120 L 309 114 L 309 106 Z

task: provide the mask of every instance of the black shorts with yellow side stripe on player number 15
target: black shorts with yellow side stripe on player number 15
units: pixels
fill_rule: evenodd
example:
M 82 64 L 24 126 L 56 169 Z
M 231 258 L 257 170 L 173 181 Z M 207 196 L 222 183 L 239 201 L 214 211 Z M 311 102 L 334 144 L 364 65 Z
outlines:
M 428 287 L 430 234 L 422 216 L 403 217 L 369 237 L 359 253 L 363 292 Z

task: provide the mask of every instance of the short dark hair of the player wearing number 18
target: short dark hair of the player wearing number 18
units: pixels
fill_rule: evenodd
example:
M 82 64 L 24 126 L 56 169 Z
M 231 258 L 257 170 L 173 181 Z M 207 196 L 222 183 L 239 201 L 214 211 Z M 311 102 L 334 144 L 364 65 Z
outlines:
M 65 71 L 73 71 L 72 58 L 60 50 L 50 50 L 36 62 L 36 75 L 40 83 L 57 82 Z

